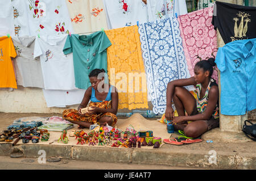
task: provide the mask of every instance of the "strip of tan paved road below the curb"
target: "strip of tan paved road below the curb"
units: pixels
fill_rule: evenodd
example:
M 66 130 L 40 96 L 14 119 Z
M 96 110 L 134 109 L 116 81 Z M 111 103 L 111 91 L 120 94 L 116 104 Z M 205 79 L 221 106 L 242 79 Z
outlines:
M 93 161 L 77 161 L 61 159 L 59 162 L 45 163 L 43 159 L 38 161 L 37 158 L 11 158 L 0 156 L 1 170 L 191 170 L 189 167 L 171 167 L 163 165 L 139 165 L 135 163 L 107 163 Z

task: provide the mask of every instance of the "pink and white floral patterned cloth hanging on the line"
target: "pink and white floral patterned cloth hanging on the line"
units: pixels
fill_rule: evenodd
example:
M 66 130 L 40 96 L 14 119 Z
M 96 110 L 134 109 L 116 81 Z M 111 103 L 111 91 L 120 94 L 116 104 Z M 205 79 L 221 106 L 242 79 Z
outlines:
M 191 77 L 196 62 L 215 58 L 217 54 L 217 35 L 212 25 L 213 7 L 193 11 L 178 16 L 185 58 Z M 212 78 L 218 81 L 217 66 Z

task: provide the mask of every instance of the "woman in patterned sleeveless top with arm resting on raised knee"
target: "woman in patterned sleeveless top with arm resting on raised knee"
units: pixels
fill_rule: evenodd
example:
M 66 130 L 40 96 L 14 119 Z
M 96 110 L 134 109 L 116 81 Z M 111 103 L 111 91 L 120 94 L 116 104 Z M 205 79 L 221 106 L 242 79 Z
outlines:
M 214 58 L 199 61 L 194 68 L 194 77 L 177 79 L 167 85 L 166 119 L 172 120 L 174 129 L 184 131 L 187 137 L 199 137 L 219 125 L 218 85 L 210 78 L 215 65 Z M 196 99 L 183 87 L 189 85 L 196 87 Z M 177 117 L 174 117 L 172 100 L 179 115 Z

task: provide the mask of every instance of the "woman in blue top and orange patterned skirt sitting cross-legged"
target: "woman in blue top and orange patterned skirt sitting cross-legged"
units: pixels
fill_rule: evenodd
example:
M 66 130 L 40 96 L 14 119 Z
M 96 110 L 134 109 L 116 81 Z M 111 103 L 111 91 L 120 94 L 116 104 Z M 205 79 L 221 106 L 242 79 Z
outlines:
M 63 119 L 73 124 L 78 124 L 79 128 L 89 128 L 90 125 L 100 123 L 100 125 L 115 125 L 117 123 L 118 92 L 114 86 L 104 83 L 104 69 L 94 69 L 89 74 L 92 86 L 85 91 L 84 98 L 77 110 L 68 109 L 63 112 Z M 81 113 L 89 103 L 90 110 Z

